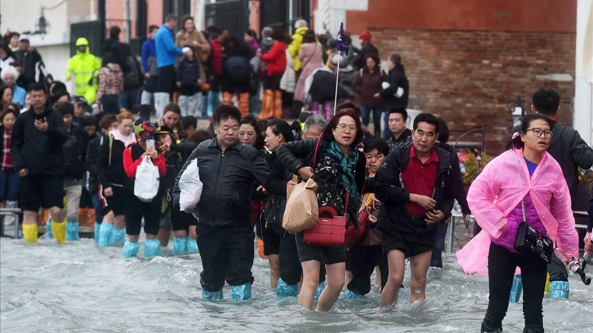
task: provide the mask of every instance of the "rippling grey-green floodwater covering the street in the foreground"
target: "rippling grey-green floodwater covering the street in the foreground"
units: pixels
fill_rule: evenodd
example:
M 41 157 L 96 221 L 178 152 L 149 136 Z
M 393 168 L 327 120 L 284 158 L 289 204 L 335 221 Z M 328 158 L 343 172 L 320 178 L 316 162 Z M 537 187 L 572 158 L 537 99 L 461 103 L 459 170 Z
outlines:
M 357 300 L 342 294 L 330 313 L 316 313 L 299 308 L 296 297 L 276 298 L 268 288 L 267 261 L 259 258 L 252 300 L 228 302 L 227 286 L 226 300 L 203 302 L 199 255 L 172 257 L 165 250 L 165 257 L 126 261 L 121 251 L 99 249 L 92 239 L 63 246 L 0 239 L 0 330 L 479 332 L 487 306 L 487 277 L 463 274 L 454 254 L 444 254 L 441 277 L 429 278 L 426 302 L 409 305 L 402 290 L 394 309 L 379 311 L 374 290 Z M 544 299 L 544 326 L 548 332 L 593 332 L 593 286 L 571 275 L 570 287 L 570 300 Z M 505 332 L 523 326 L 522 305 L 509 305 Z

